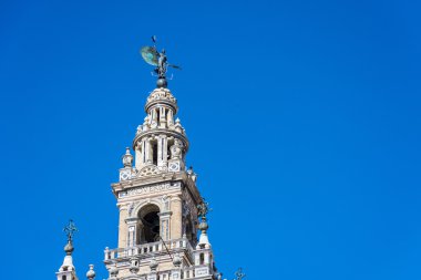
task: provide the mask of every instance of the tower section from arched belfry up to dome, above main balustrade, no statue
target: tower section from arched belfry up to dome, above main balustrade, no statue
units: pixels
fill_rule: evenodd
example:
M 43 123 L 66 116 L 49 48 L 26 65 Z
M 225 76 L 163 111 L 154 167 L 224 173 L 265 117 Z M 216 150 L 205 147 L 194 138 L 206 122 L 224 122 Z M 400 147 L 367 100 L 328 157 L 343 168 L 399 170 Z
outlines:
M 119 248 L 188 236 L 194 242 L 196 176 L 185 172 L 188 141 L 171 91 L 155 89 L 147 97 L 144 123 L 123 156 L 120 183 L 113 184 L 120 207 Z M 134 162 L 134 166 L 133 166 Z

